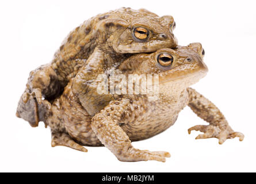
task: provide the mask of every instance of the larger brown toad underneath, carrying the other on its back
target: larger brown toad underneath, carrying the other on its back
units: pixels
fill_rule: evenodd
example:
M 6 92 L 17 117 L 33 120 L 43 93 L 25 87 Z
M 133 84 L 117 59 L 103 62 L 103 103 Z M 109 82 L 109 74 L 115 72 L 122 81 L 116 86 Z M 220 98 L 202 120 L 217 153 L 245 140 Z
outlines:
M 116 74 L 123 74 L 127 78 L 131 74 L 157 74 L 159 80 L 151 86 L 158 87 L 158 98 L 151 100 L 148 94 L 116 95 L 116 99 L 93 117 L 72 93 L 75 81 L 70 81 L 52 106 L 48 102 L 44 104 L 44 101 L 38 106 L 42 120 L 51 128 L 52 146 L 65 145 L 86 152 L 82 145 L 103 144 L 121 161 L 165 162 L 165 157 L 170 156 L 168 152 L 137 150 L 131 142 L 165 131 L 174 124 L 186 105 L 198 117 L 209 122 L 209 125 L 197 125 L 189 129 L 189 133 L 192 130 L 204 132 L 197 139 L 216 137 L 220 144 L 234 137 L 242 141 L 243 134 L 231 129 L 220 110 L 189 87 L 207 74 L 203 55 L 201 44 L 193 43 L 187 47 L 163 48 L 129 57 L 120 64 Z M 105 101 L 104 95 L 102 101 Z

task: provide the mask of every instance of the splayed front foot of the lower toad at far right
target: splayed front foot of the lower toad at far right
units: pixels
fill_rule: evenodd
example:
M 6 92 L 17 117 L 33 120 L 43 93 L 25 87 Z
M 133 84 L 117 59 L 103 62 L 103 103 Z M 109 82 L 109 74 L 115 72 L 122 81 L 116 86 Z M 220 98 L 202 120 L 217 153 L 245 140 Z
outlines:
M 242 141 L 244 138 L 243 133 L 234 132 L 229 126 L 226 129 L 221 129 L 213 125 L 196 125 L 188 129 L 189 134 L 191 131 L 204 132 L 203 134 L 198 135 L 196 139 L 207 139 L 215 137 L 219 139 L 219 144 L 224 143 L 224 141 L 227 139 L 232 139 L 235 137 L 239 137 L 240 141 Z

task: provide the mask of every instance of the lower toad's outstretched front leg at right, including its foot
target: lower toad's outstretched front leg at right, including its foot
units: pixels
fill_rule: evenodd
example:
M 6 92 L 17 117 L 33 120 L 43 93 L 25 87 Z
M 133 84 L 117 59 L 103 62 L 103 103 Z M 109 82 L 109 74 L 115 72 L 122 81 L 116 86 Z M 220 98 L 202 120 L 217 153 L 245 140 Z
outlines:
M 219 144 L 224 143 L 226 139 L 232 139 L 234 137 L 239 137 L 240 141 L 243 140 L 243 133 L 234 132 L 230 125 L 228 125 L 226 118 L 211 101 L 192 88 L 188 88 L 188 93 L 189 107 L 198 117 L 209 122 L 209 125 L 196 125 L 189 128 L 189 134 L 191 131 L 201 131 L 204 134 L 198 135 L 196 139 L 216 137 L 219 139 Z

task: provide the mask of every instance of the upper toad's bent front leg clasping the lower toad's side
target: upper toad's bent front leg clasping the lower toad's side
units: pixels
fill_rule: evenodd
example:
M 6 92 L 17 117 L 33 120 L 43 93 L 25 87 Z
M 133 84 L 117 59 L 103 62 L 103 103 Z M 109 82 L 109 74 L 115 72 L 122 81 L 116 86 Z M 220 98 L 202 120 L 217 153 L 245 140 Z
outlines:
M 91 116 L 94 116 L 95 113 L 108 105 L 109 101 L 114 99 L 112 94 L 104 94 L 104 98 L 102 98 L 102 95 L 97 92 L 99 82 L 97 78 L 105 74 L 108 62 L 113 61 L 101 49 L 95 48 L 86 64 L 75 76 L 72 84 L 72 92 L 77 95 L 83 108 Z

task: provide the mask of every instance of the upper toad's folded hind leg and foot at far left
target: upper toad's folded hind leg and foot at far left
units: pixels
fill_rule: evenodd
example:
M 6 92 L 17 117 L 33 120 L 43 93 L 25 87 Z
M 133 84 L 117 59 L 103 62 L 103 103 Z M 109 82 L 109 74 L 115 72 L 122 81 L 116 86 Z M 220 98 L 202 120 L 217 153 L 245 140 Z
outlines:
M 26 89 L 18 102 L 16 116 L 28 121 L 32 127 L 37 127 L 39 121 L 44 121 L 45 111 L 51 109 L 48 100 L 58 95 L 59 91 L 58 76 L 50 65 L 31 71 Z M 42 95 L 46 98 L 42 99 Z

